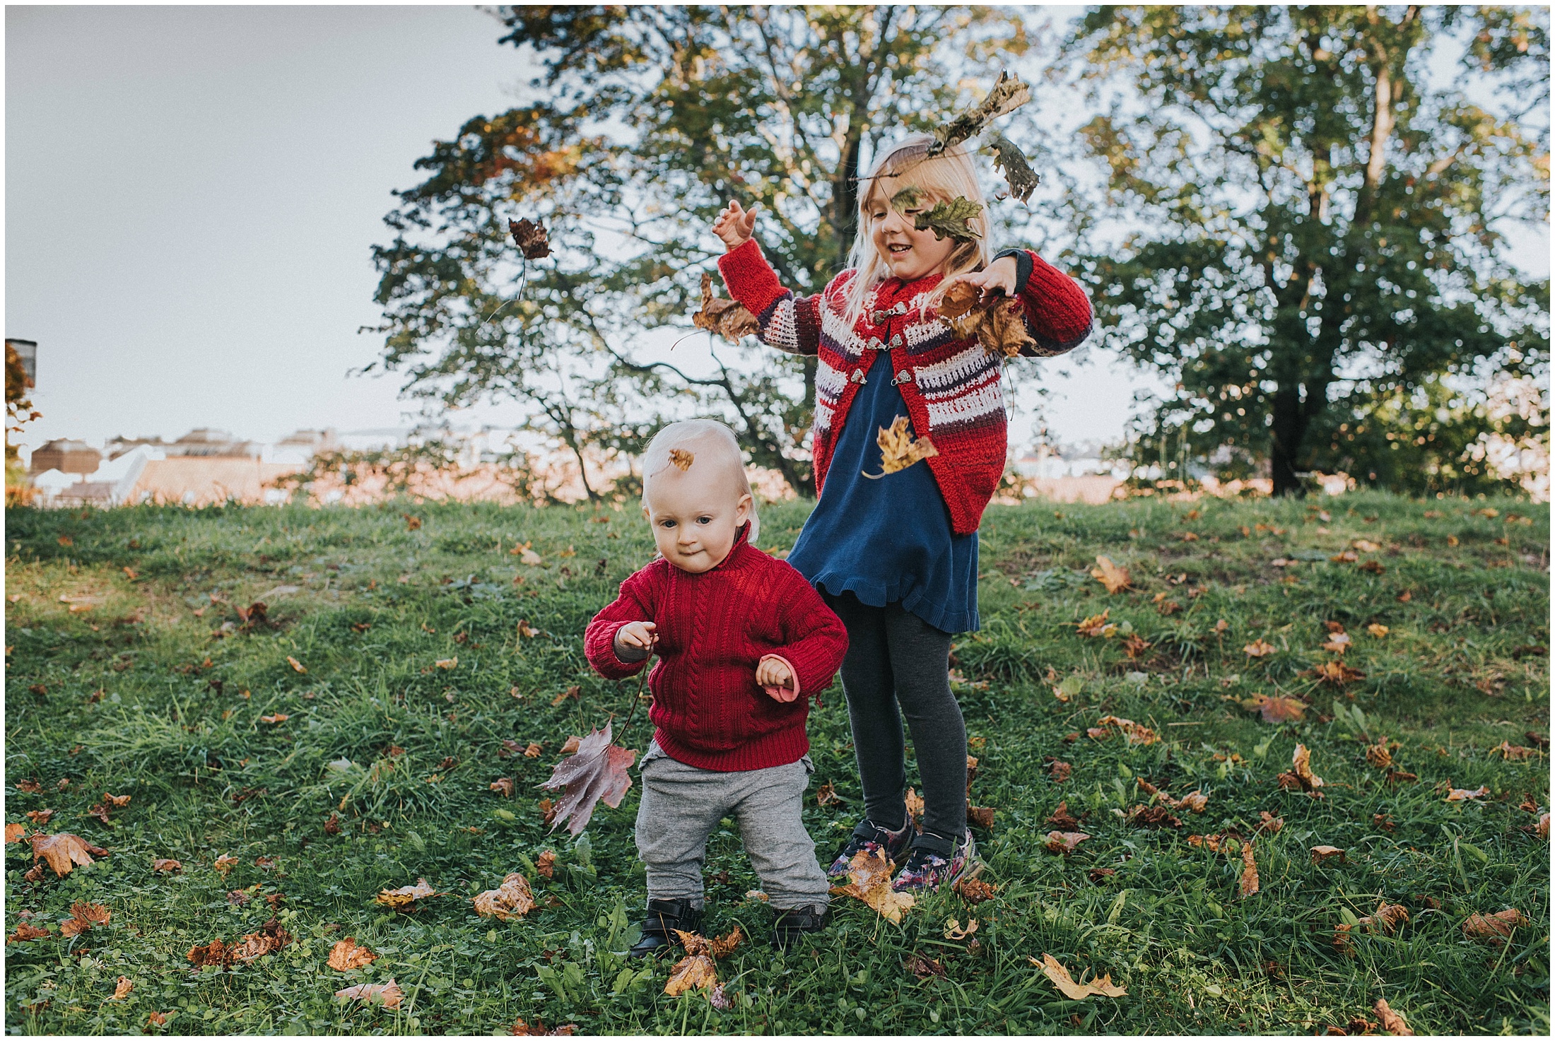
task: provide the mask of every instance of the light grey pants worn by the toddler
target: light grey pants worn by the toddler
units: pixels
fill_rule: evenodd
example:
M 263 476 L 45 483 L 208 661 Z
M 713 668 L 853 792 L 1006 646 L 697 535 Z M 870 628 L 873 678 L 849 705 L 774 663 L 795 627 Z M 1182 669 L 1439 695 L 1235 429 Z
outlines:
M 638 855 L 648 869 L 648 900 L 703 903 L 708 836 L 723 817 L 740 823 L 745 853 L 773 907 L 824 907 L 827 879 L 799 811 L 815 766 L 805 755 L 759 771 L 704 771 L 666 755 L 642 757 Z

